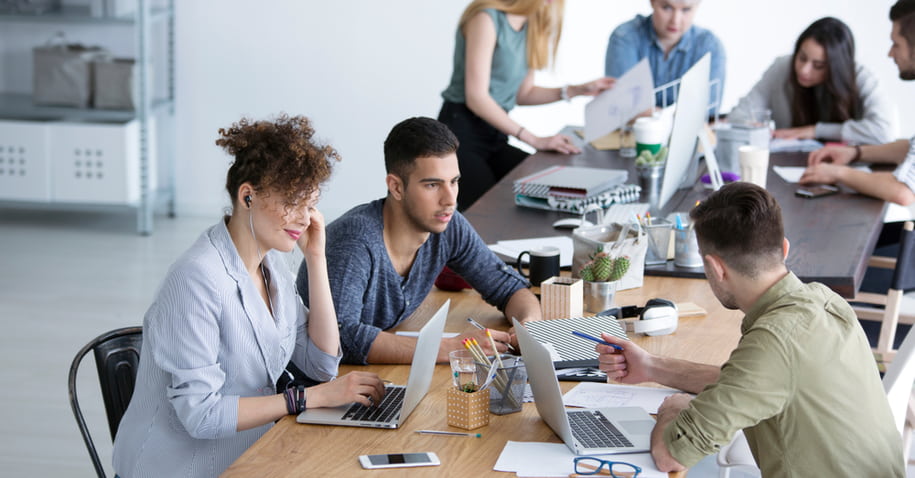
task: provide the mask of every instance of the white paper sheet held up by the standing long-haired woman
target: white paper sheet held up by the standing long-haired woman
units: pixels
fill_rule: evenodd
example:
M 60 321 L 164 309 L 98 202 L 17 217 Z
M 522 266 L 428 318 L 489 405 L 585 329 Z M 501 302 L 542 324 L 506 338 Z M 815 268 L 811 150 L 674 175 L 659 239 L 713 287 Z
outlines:
M 613 88 L 585 106 L 585 141 L 619 128 L 635 115 L 651 109 L 653 103 L 654 80 L 648 58 L 644 58 L 617 78 Z

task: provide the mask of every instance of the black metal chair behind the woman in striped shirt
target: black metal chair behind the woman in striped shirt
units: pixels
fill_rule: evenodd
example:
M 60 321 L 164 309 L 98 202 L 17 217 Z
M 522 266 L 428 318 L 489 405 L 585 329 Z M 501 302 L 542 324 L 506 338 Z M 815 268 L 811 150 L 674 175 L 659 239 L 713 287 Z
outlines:
M 108 414 L 108 428 L 111 439 L 118 431 L 121 417 L 127 410 L 130 397 L 133 396 L 133 386 L 137 378 L 137 365 L 140 363 L 140 345 L 143 342 L 142 327 L 124 327 L 99 335 L 85 347 L 77 352 L 70 364 L 70 406 L 73 416 L 83 434 L 83 441 L 89 451 L 89 457 L 95 466 L 95 472 L 100 478 L 105 478 L 105 470 L 99 460 L 95 444 L 89 435 L 89 428 L 79 408 L 76 397 L 76 373 L 79 370 L 83 357 L 90 351 L 95 353 L 95 365 L 98 369 L 99 385 L 102 388 L 102 398 L 105 402 L 105 411 Z

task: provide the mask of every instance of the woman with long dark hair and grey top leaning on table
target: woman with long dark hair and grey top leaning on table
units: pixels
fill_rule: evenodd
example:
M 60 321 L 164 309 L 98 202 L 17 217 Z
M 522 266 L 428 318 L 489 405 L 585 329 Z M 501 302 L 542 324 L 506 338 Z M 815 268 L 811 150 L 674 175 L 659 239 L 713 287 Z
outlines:
M 777 58 L 731 110 L 732 122 L 753 122 L 769 110 L 773 136 L 876 144 L 896 137 L 896 109 L 867 68 L 855 62 L 855 39 L 842 21 L 807 27 L 794 54 Z

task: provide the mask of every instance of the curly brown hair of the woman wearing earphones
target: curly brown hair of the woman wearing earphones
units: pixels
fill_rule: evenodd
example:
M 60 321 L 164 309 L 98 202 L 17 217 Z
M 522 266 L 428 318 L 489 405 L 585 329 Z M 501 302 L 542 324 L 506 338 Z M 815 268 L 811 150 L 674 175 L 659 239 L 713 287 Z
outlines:
M 316 142 L 314 134 L 308 118 L 285 113 L 275 121 L 242 118 L 229 128 L 219 128 L 216 145 L 235 157 L 226 173 L 232 203 L 245 182 L 259 193 L 279 193 L 287 207 L 319 191 L 340 155 Z

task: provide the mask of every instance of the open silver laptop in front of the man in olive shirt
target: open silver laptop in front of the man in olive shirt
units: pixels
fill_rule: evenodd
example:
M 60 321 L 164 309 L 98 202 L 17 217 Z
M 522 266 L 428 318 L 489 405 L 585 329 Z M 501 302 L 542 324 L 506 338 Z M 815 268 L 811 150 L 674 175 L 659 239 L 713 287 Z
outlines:
M 640 407 L 566 409 L 546 347 L 514 321 L 537 413 L 576 455 L 639 453 L 650 449 L 655 420 Z

